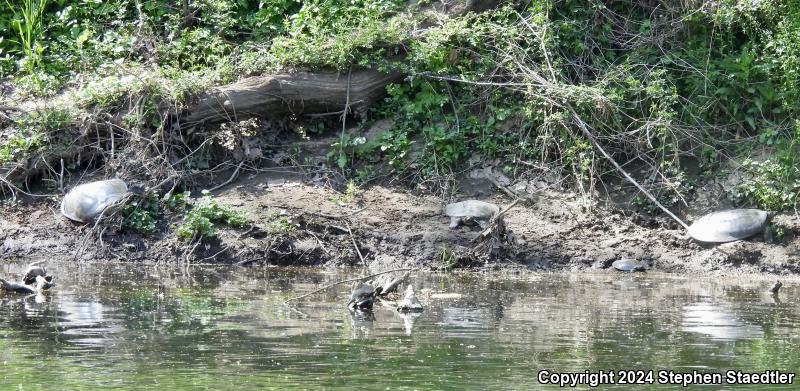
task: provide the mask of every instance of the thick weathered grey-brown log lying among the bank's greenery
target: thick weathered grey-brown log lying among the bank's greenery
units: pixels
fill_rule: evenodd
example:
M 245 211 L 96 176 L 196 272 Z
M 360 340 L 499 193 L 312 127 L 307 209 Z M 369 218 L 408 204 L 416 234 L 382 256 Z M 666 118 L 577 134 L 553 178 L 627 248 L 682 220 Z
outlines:
M 386 85 L 401 79 L 399 73 L 376 70 L 249 77 L 201 95 L 182 122 L 191 126 L 253 116 L 336 114 L 348 102 L 351 110 L 360 111 L 382 98 Z

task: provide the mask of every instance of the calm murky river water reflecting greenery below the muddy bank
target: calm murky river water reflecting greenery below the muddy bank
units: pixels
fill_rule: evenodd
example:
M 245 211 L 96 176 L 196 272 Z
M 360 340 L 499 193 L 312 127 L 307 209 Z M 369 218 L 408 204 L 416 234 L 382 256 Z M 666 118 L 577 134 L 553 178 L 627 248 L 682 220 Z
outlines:
M 420 273 L 422 314 L 376 305 L 365 320 L 345 308 L 347 285 L 284 303 L 354 271 L 49 271 L 44 295 L 0 293 L 2 390 L 558 388 L 544 370 L 638 370 L 644 388 L 680 389 L 659 375 L 800 370 L 800 290 L 773 296 L 757 278 Z

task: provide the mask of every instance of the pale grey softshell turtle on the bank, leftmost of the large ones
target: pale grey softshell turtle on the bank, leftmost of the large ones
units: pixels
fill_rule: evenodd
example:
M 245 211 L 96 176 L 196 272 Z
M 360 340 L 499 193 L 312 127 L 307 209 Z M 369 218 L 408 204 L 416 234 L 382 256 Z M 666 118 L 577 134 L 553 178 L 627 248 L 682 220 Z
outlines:
M 61 214 L 70 220 L 86 223 L 103 213 L 109 205 L 128 192 L 121 179 L 89 182 L 70 190 L 61 201 Z

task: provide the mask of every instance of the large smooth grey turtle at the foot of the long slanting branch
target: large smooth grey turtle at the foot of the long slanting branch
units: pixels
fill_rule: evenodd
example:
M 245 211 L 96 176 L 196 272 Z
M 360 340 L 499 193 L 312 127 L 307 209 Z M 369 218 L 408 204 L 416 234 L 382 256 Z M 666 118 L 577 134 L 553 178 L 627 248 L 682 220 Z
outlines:
M 700 242 L 724 243 L 764 232 L 770 213 L 758 209 L 729 209 L 707 214 L 689 227 L 689 236 Z

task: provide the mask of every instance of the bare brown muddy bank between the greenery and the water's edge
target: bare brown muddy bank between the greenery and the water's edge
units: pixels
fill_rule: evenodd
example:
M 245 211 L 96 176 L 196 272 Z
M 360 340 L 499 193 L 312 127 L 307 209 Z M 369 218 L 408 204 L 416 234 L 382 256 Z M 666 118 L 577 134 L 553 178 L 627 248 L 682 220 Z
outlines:
M 511 203 L 488 181 L 463 180 L 458 199 L 477 198 L 501 207 Z M 800 271 L 800 239 L 794 235 L 798 223 L 792 215 L 775 219 L 786 232 L 781 243 L 751 238 L 704 246 L 667 220 L 626 216 L 618 208 L 598 205 L 589 210 L 570 193 L 533 193 L 505 216 L 508 240 L 479 249 L 472 240 L 480 228 L 448 229 L 440 198 L 381 185 L 342 194 L 285 170 L 245 174 L 215 192 L 219 201 L 246 212 L 254 225 L 220 228 L 218 240 L 191 248 L 169 229 L 154 237 L 113 227 L 100 230 L 61 217 L 57 199 L 31 199 L 0 209 L 0 256 L 543 271 L 609 269 L 617 259 L 635 258 L 652 271 L 670 273 Z M 276 216 L 285 217 L 291 229 L 275 232 L 270 222 Z

